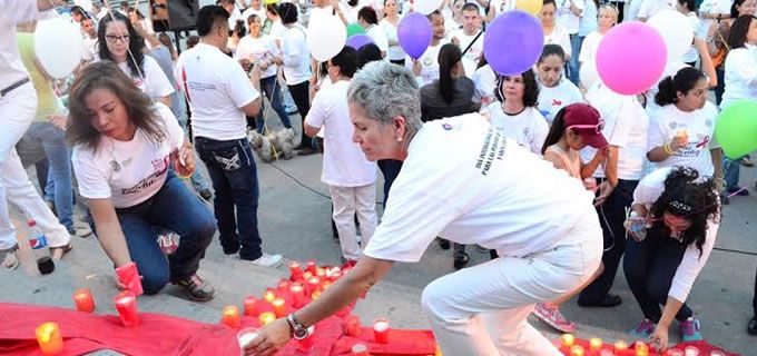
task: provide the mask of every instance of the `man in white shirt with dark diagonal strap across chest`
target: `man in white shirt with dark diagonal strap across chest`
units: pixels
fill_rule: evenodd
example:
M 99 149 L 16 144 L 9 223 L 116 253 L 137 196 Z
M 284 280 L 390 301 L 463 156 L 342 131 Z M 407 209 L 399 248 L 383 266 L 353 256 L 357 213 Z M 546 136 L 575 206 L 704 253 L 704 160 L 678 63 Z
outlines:
M 473 72 L 483 55 L 483 29 L 481 26 L 481 12 L 475 3 L 463 6 L 463 28 L 452 32 L 452 43 L 463 51 L 463 67 L 465 76 L 473 77 Z

